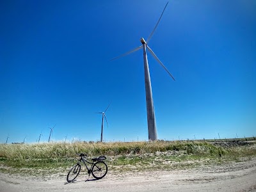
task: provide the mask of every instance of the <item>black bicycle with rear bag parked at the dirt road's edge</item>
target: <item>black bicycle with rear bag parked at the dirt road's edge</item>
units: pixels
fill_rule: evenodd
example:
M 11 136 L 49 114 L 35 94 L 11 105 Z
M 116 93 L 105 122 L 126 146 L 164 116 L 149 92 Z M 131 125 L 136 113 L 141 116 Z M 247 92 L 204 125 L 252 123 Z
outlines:
M 90 173 L 92 173 L 92 176 L 95 179 L 102 179 L 103 177 L 105 177 L 105 175 L 108 172 L 108 166 L 104 162 L 104 160 L 106 159 L 105 156 L 99 156 L 99 157 L 93 158 L 92 163 L 87 161 L 86 154 L 77 154 L 77 156 L 80 156 L 80 159 L 77 162 L 77 164 L 73 166 L 68 172 L 67 182 L 75 181 L 76 177 L 79 175 L 81 170 L 81 162 L 83 162 L 85 167 L 87 168 L 89 177 L 90 177 Z M 86 163 L 92 164 L 91 167 L 89 168 Z

